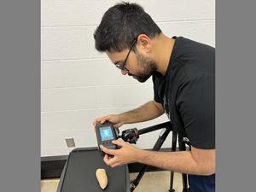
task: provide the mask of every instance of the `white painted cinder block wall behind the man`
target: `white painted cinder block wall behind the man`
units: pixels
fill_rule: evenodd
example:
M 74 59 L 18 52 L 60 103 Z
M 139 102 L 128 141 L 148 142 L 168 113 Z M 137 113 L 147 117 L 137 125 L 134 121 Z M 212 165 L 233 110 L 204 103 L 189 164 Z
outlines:
M 153 99 L 151 79 L 141 84 L 122 76 L 94 48 L 93 32 L 117 0 L 41 1 L 41 156 L 68 154 L 64 138 L 76 147 L 96 146 L 91 122 Z M 215 46 L 214 0 L 138 0 L 162 31 Z M 166 121 L 125 125 L 143 128 Z M 121 129 L 121 131 L 123 130 Z M 143 135 L 137 146 L 152 148 L 160 131 Z M 170 147 L 171 137 L 163 147 Z

